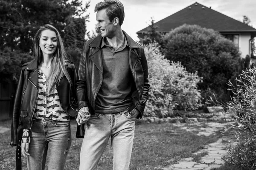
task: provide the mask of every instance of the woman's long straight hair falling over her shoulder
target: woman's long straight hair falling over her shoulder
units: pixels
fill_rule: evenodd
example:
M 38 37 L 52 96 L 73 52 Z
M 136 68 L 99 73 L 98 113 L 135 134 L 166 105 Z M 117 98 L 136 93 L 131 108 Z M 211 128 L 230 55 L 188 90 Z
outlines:
M 57 35 L 57 48 L 54 54 L 52 55 L 51 71 L 46 81 L 46 85 L 48 85 L 47 94 L 49 94 L 49 92 L 52 91 L 53 88 L 55 87 L 56 83 L 60 82 L 61 77 L 65 76 L 70 85 L 72 85 L 72 82 L 71 82 L 70 75 L 68 74 L 67 69 L 65 68 L 65 63 L 68 60 L 67 60 L 67 54 L 63 45 L 61 35 L 54 26 L 49 24 L 40 27 L 40 29 L 35 34 L 33 49 L 34 49 L 35 59 L 37 59 L 38 65 L 40 65 L 43 61 L 43 52 L 41 51 L 39 42 L 42 35 L 42 31 L 44 30 L 54 31 Z

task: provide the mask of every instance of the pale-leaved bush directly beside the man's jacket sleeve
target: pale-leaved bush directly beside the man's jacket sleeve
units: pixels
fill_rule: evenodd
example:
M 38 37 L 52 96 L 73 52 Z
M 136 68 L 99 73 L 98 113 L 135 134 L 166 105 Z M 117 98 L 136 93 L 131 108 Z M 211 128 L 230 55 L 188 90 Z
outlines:
M 145 45 L 148 79 L 151 84 L 145 116 L 165 117 L 174 109 L 196 110 L 201 107 L 197 89 L 201 78 L 189 73 L 180 62 L 171 62 L 160 53 L 157 43 Z

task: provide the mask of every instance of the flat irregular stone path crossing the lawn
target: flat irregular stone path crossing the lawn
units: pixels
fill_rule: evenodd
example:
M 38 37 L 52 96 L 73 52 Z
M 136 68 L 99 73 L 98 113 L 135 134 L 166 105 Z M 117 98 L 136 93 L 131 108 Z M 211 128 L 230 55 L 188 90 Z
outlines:
M 198 124 L 198 123 L 197 123 Z M 177 126 L 182 126 L 178 124 Z M 198 135 L 209 136 L 219 130 L 223 130 L 224 127 L 231 127 L 231 123 L 205 123 L 204 127 L 181 127 L 188 131 L 199 130 Z M 223 142 L 226 141 L 226 142 Z M 157 167 L 157 170 L 211 170 L 213 168 L 221 167 L 224 164 L 222 157 L 227 154 L 226 147 L 232 142 L 230 136 L 223 135 L 217 142 L 207 144 L 205 149 L 199 150 L 195 154 L 207 152 L 206 156 L 203 156 L 200 161 L 195 162 L 193 158 L 185 158 L 180 160 L 177 164 L 172 164 L 169 167 Z

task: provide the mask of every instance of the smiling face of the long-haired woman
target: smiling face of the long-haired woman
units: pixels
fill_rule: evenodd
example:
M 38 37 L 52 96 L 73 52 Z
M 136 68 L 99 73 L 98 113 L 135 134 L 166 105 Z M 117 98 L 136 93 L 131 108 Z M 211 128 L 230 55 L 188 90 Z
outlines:
M 48 55 L 52 57 L 53 53 L 56 51 L 57 45 L 57 35 L 54 31 L 49 29 L 42 31 L 39 46 L 44 56 Z

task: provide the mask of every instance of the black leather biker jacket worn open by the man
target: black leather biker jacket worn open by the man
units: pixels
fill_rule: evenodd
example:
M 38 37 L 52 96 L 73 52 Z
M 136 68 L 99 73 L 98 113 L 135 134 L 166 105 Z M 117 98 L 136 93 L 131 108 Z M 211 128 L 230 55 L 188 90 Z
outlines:
M 129 112 L 135 109 L 140 111 L 138 118 L 143 116 L 145 103 L 148 99 L 148 64 L 143 47 L 135 42 L 125 31 L 123 31 L 129 51 L 129 65 L 134 79 L 132 92 L 132 106 Z M 83 57 L 80 59 L 79 78 L 76 82 L 76 94 L 79 109 L 88 107 L 91 114 L 94 114 L 95 100 L 103 81 L 103 66 L 101 54 L 101 34 L 96 38 L 84 43 Z M 83 124 L 82 124 L 83 125 Z M 77 131 L 77 137 L 82 137 L 83 126 Z

